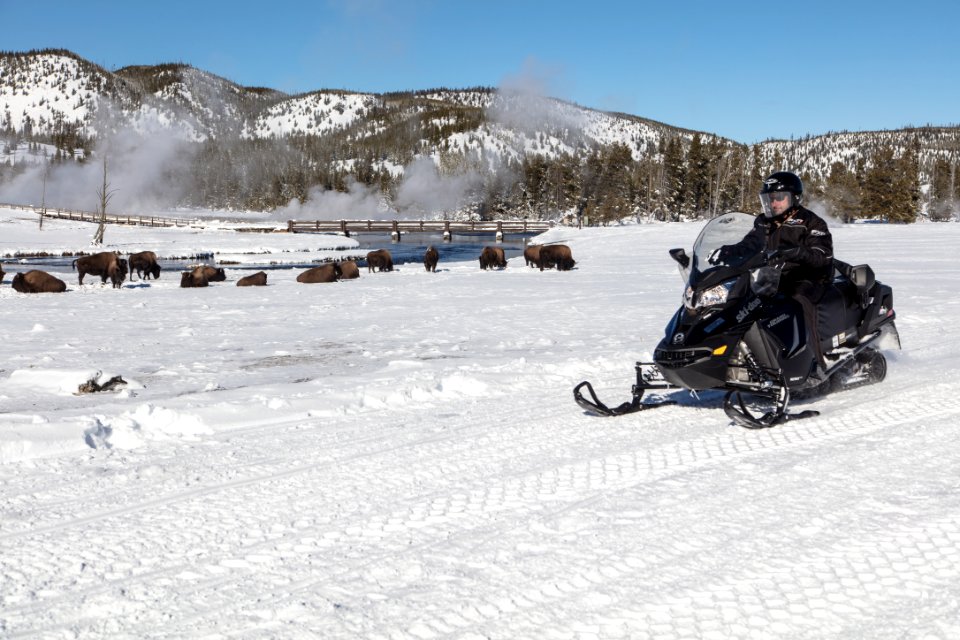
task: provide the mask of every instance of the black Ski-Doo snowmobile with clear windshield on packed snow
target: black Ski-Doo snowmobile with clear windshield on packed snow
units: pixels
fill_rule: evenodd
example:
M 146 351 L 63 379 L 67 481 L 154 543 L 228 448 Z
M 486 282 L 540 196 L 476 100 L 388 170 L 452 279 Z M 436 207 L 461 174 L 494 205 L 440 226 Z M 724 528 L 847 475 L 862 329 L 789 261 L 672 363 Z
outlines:
M 584 381 L 573 390 L 577 404 L 617 416 L 676 404 L 644 403 L 648 390 L 720 389 L 727 391 L 723 408 L 735 423 L 761 429 L 819 415 L 788 413 L 791 394 L 813 397 L 883 380 L 887 362 L 880 349 L 900 348 L 891 288 L 876 281 L 868 265 L 834 261 L 835 277 L 817 305 L 824 369 L 808 342 L 800 303 L 777 293 L 782 261 L 776 255 L 709 261 L 753 223 L 746 213 L 725 214 L 707 223 L 692 258 L 683 249 L 670 251 L 686 282 L 683 306 L 667 325 L 654 361 L 637 363 L 633 398 L 608 407 Z

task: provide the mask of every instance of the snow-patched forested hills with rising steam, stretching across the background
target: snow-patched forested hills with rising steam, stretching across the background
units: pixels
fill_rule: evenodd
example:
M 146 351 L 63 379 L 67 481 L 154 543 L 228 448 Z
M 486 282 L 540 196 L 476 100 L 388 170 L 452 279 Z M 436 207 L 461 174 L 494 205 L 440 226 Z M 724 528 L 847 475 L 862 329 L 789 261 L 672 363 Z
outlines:
M 55 179 L 112 158 L 135 207 L 118 183 L 131 157 L 154 165 L 138 186 L 154 205 L 239 210 L 343 194 L 396 217 L 672 220 L 755 210 L 760 179 L 782 168 L 847 219 L 950 218 L 960 196 L 958 127 L 748 146 L 489 87 L 287 95 L 180 63 L 108 71 L 64 50 L 0 53 L 0 197 L 39 202 L 37 167 Z

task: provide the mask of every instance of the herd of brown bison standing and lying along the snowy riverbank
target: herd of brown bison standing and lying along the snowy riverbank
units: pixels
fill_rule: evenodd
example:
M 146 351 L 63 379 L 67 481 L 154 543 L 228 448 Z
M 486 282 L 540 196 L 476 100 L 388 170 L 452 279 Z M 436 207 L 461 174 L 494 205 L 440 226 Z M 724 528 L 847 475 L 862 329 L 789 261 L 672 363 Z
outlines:
M 530 245 L 524 250 L 523 257 L 527 266 L 539 267 L 541 271 L 544 269 L 569 271 L 576 264 L 570 247 L 564 244 Z M 386 249 L 369 252 L 366 260 L 367 270 L 370 273 L 393 271 L 393 257 Z M 433 246 L 427 247 L 423 254 L 424 268 L 428 272 L 436 272 L 439 260 L 439 252 Z M 507 260 L 502 248 L 484 247 L 480 252 L 481 269 L 504 269 L 506 266 Z M 120 254 L 112 251 L 103 251 L 77 258 L 73 261 L 72 267 L 77 271 L 77 281 L 80 285 L 83 285 L 83 278 L 86 275 L 99 276 L 101 284 L 106 284 L 109 279 L 111 285 L 118 289 L 128 275 L 131 281 L 134 280 L 134 274 L 142 280 L 149 280 L 151 277 L 160 278 L 160 265 L 157 262 L 157 254 L 153 251 L 133 253 L 129 258 L 122 258 Z M 0 268 L 0 281 L 3 280 L 3 276 L 3 269 Z M 297 282 L 313 284 L 359 277 L 360 268 L 357 263 L 346 260 L 307 269 L 297 276 Z M 180 274 L 180 286 L 182 288 L 206 287 L 211 282 L 223 282 L 226 279 L 227 275 L 222 267 L 199 265 Z M 266 284 L 267 274 L 263 271 L 237 281 L 238 287 L 262 287 Z M 67 284 L 63 280 L 36 269 L 16 274 L 11 286 L 21 293 L 59 293 L 67 290 Z

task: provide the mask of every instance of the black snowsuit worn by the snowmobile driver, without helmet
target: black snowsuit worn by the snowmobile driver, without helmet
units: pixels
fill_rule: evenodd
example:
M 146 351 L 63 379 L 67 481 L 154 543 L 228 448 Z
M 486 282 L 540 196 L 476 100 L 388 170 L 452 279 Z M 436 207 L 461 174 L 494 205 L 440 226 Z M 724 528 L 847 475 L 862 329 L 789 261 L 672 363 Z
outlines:
M 827 223 L 804 207 L 794 207 L 776 218 L 759 215 L 753 230 L 738 243 L 737 253 L 755 255 L 765 250 L 785 251 L 789 256 L 783 261 L 779 290 L 803 307 L 814 353 L 823 367 L 816 305 L 833 278 L 833 236 Z

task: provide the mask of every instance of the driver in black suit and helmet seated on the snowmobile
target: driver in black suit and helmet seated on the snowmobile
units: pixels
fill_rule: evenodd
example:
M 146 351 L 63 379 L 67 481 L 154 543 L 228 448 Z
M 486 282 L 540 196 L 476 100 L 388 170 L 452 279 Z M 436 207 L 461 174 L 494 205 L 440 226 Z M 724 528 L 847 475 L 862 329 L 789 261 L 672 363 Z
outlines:
M 736 245 L 718 249 L 709 261 L 716 264 L 733 255 L 767 251 L 782 265 L 779 291 L 803 307 L 803 315 L 821 368 L 825 368 L 817 331 L 816 304 L 833 277 L 833 237 L 823 218 L 801 206 L 803 183 L 796 174 L 777 171 L 763 181 L 753 229 Z

